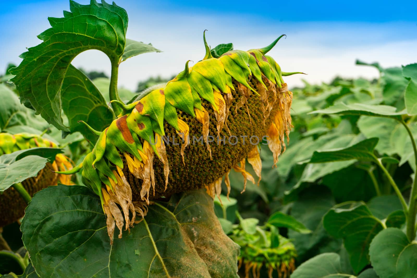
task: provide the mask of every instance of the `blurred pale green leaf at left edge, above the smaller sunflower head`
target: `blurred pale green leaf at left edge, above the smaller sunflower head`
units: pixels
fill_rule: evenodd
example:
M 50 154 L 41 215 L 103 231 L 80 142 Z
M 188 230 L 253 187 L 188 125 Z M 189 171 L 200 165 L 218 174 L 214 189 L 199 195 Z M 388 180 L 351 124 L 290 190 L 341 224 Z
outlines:
M 30 125 L 40 130 L 48 127 L 48 123 L 33 110 L 20 104 L 18 96 L 4 84 L 0 84 L 0 95 L 0 130 L 15 125 Z

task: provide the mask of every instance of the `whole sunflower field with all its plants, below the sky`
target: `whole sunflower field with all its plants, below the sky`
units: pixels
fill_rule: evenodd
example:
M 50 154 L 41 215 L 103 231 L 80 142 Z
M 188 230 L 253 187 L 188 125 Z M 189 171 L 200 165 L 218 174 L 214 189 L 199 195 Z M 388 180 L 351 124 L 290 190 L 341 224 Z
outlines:
M 294 86 L 285 35 L 202 30 L 132 92 L 119 65 L 159 46 L 115 3 L 69 10 L 0 73 L 0 277 L 416 277 L 414 61 Z M 71 64 L 92 49 L 110 76 Z

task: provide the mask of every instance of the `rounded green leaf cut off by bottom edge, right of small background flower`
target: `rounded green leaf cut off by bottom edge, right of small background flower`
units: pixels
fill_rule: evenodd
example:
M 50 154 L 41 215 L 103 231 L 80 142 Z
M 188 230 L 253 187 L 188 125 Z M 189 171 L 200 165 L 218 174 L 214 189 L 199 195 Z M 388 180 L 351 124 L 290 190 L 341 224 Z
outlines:
M 302 263 L 291 274 L 291 278 L 355 278 L 342 273 L 340 256 L 336 253 L 324 253 Z

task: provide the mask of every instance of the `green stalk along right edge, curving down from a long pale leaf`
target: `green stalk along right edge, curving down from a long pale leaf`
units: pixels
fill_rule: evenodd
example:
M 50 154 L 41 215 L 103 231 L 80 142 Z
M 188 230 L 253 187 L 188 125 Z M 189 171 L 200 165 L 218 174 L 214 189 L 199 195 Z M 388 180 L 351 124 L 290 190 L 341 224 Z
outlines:
M 402 125 L 404 125 L 404 128 L 407 130 L 407 133 L 410 136 L 411 144 L 414 150 L 414 159 L 417 165 L 417 146 L 416 146 L 416 142 L 414 140 L 413 134 L 411 133 L 410 128 L 404 122 L 404 120 L 402 120 L 401 123 Z M 417 198 L 417 170 L 414 173 L 414 181 L 411 187 L 410 200 L 408 204 L 409 213 L 407 215 L 407 238 L 409 241 L 414 240 L 416 236 L 416 227 L 415 227 L 416 214 L 417 214 L 416 198 Z

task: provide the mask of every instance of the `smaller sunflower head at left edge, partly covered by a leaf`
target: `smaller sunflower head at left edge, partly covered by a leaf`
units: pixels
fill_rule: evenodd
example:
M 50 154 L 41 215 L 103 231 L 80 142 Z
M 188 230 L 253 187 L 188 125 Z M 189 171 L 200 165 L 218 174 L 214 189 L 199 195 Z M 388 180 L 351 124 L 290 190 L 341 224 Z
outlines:
M 29 133 L 18 133 L 14 135 L 0 133 L 0 155 L 37 147 L 58 148 L 55 143 L 39 135 Z M 58 183 L 70 185 L 70 175 L 54 172 L 67 171 L 72 168 L 73 164 L 71 160 L 62 153 L 58 153 L 52 163 L 46 163 L 45 168 L 40 170 L 38 175 L 23 180 L 22 185 L 31 196 L 50 185 L 57 185 Z M 0 211 L 2 212 L 0 214 L 0 227 L 13 223 L 23 217 L 26 205 L 25 201 L 14 188 L 8 188 L 8 190 L 0 192 Z

